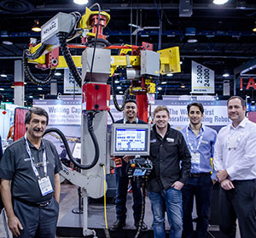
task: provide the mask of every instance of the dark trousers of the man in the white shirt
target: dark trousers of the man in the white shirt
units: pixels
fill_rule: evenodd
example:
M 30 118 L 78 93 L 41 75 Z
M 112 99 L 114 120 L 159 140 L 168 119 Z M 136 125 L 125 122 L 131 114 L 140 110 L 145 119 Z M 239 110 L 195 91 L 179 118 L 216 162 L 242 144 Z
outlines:
M 256 237 L 256 179 L 232 181 L 235 189 L 220 189 L 220 231 L 223 238 L 236 237 L 236 218 L 241 238 Z

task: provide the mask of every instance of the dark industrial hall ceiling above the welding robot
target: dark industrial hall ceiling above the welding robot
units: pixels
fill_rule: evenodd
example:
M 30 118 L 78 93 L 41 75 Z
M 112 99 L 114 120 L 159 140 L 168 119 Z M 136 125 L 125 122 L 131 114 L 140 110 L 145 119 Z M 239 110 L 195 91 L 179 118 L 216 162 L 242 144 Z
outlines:
M 99 0 L 90 1 L 87 6 L 99 3 L 102 10 L 111 15 L 104 34 L 112 44 L 154 43 L 154 50 L 178 46 L 182 72 L 172 77 L 162 77 L 159 82 L 158 95 L 190 94 L 191 60 L 205 65 L 215 71 L 215 93 L 223 95 L 224 81 L 230 81 L 230 94 L 233 94 L 234 78 L 239 77 L 239 69 L 243 65 L 252 66 L 256 55 L 256 1 L 230 0 L 224 5 L 215 5 L 212 0 L 194 0 L 191 11 L 182 11 L 182 3 L 186 0 Z M 31 37 L 40 40 L 40 33 L 31 30 L 38 21 L 43 26 L 59 12 L 71 13 L 79 11 L 84 14 L 85 7 L 73 3 L 73 0 L 2 0 L 0 2 L 0 93 L 5 100 L 13 101 L 15 60 L 22 59 L 22 52 L 28 48 Z M 135 28 L 129 24 L 140 26 L 136 35 Z M 147 29 L 146 26 L 155 26 Z M 160 27 L 161 26 L 161 27 Z M 157 28 L 161 28 L 161 31 Z M 193 42 L 197 40 L 197 42 Z M 4 42 L 12 42 L 8 45 Z M 189 42 L 190 41 L 190 42 Z M 192 42 L 191 42 L 192 41 Z M 74 42 L 79 43 L 79 38 Z M 78 54 L 73 49 L 72 54 Z M 234 70 L 236 69 L 236 76 Z M 55 77 L 58 92 L 63 94 L 63 71 Z M 230 77 L 223 77 L 228 72 Z M 36 71 L 44 75 L 44 71 Z M 247 76 L 253 76 L 248 71 Z M 237 81 L 238 82 L 238 81 Z M 246 82 L 245 82 L 246 83 Z M 119 91 L 124 92 L 129 84 L 121 83 Z M 184 88 L 181 88 L 184 86 Z M 41 87 L 29 82 L 26 78 L 26 104 L 32 99 L 42 98 L 49 94 L 49 86 Z M 124 89 L 124 90 L 123 90 Z M 117 92 L 119 92 L 117 91 Z M 253 89 L 236 90 L 241 96 L 253 97 Z M 121 93 L 120 93 L 121 94 Z

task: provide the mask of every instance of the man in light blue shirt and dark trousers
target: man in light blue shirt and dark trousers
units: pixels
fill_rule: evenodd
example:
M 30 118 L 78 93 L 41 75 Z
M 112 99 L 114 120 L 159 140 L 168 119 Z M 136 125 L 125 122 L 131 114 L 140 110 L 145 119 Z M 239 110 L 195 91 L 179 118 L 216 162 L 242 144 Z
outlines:
M 189 126 L 182 129 L 191 154 L 191 172 L 189 181 L 183 186 L 183 238 L 205 238 L 209 223 L 212 185 L 217 180 L 212 172 L 214 144 L 217 133 L 210 127 L 202 125 L 204 108 L 201 103 L 187 106 Z M 193 231 L 193 201 L 196 201 L 197 224 L 196 236 Z

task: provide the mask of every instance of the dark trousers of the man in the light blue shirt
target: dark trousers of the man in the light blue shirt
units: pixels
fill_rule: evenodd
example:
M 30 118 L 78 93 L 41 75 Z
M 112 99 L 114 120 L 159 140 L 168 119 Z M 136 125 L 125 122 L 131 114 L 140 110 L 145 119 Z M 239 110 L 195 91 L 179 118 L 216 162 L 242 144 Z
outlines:
M 189 178 L 188 183 L 183 186 L 183 237 L 184 238 L 206 238 L 207 227 L 210 216 L 212 200 L 212 178 L 211 175 L 199 178 Z M 194 235 L 192 224 L 192 211 L 194 195 L 197 212 L 196 235 Z

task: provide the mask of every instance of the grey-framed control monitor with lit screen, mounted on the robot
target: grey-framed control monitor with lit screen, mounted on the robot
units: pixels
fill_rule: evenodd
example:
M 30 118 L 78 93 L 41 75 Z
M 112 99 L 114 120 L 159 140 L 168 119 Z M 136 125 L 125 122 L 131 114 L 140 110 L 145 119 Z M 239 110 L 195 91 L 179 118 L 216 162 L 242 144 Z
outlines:
M 148 156 L 150 125 L 113 124 L 111 154 L 113 156 Z

